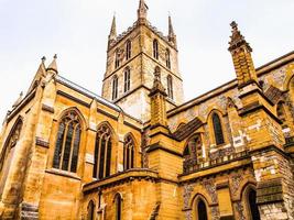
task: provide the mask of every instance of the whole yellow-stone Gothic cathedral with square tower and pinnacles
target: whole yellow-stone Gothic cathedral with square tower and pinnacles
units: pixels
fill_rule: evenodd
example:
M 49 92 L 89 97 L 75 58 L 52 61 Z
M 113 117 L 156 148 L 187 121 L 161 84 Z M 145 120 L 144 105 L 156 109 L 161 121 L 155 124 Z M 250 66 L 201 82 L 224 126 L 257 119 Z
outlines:
M 42 58 L 2 124 L 0 219 L 294 220 L 294 52 L 255 68 L 232 22 L 236 79 L 184 102 L 148 10 L 113 18 L 101 96 Z

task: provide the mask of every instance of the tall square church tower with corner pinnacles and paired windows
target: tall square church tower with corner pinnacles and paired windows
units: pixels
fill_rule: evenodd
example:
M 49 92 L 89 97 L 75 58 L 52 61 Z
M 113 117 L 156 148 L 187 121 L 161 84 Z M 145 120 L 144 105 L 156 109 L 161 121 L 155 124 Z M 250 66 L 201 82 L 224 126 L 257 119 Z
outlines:
M 162 72 L 167 92 L 166 109 L 183 103 L 183 81 L 178 72 L 176 35 L 168 16 L 168 34 L 163 35 L 148 21 L 148 6 L 140 0 L 138 20 L 117 35 L 116 18 L 108 41 L 102 97 L 143 122 L 150 120 L 150 97 L 154 69 Z

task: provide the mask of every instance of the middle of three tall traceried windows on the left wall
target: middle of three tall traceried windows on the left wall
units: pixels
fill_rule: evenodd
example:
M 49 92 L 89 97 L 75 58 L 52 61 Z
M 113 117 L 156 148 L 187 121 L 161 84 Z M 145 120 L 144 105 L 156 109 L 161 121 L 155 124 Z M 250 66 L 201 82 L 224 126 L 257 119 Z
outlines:
M 102 124 L 97 131 L 96 145 L 95 145 L 95 164 L 92 170 L 94 178 L 105 178 L 110 176 L 111 164 L 111 131 L 106 124 Z

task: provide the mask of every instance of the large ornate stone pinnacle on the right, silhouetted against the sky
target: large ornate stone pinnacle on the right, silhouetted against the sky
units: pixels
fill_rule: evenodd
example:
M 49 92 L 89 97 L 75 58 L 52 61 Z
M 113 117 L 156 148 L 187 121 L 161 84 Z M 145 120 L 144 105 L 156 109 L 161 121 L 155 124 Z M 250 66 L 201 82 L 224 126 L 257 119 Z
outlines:
M 239 31 L 238 24 L 233 21 L 230 25 L 232 35 L 228 50 L 232 56 L 238 85 L 239 87 L 244 87 L 251 82 L 258 85 L 258 77 L 251 57 L 252 48 Z

